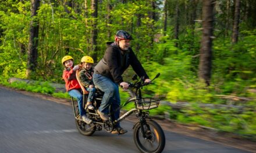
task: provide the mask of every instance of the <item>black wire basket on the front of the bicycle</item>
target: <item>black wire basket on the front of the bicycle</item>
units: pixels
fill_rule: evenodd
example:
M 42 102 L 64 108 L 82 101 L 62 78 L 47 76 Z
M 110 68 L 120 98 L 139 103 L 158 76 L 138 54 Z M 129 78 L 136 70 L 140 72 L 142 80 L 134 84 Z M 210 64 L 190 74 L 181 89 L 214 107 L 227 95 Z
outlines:
M 136 108 L 138 110 L 151 110 L 158 107 L 159 101 L 159 99 L 154 98 L 143 98 L 141 100 L 136 100 Z

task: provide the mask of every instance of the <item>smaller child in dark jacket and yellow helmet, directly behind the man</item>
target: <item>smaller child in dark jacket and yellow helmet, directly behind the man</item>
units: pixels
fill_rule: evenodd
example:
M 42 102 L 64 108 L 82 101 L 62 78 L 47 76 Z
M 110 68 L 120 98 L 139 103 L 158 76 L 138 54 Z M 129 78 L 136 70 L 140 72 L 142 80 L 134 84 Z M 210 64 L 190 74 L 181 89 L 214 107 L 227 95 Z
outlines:
M 81 59 L 81 65 L 83 66 L 83 69 L 79 72 L 79 80 L 81 84 L 86 88 L 88 94 L 88 99 L 86 103 L 86 107 L 89 110 L 94 110 L 94 107 L 92 105 L 92 101 L 94 98 L 95 88 L 93 84 L 93 58 L 90 56 L 84 56 Z

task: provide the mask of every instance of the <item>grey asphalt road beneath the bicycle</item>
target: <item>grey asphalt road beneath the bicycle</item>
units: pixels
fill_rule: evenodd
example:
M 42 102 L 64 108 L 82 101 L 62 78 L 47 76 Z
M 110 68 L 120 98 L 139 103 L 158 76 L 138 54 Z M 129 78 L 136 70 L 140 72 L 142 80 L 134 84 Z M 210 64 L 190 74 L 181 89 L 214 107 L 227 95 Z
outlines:
M 74 124 L 70 105 L 0 87 L 0 152 L 139 152 L 133 122 L 123 121 L 123 135 L 95 132 L 83 136 Z M 165 130 L 163 152 L 247 152 Z

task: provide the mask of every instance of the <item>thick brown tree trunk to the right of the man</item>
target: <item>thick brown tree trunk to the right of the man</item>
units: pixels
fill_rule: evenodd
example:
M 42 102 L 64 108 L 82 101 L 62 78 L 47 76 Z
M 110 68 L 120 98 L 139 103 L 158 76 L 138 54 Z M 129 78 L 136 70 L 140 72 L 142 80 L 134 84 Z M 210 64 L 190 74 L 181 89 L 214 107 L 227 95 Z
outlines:
M 209 86 L 212 65 L 212 35 L 214 31 L 215 0 L 202 1 L 202 41 L 198 77 Z

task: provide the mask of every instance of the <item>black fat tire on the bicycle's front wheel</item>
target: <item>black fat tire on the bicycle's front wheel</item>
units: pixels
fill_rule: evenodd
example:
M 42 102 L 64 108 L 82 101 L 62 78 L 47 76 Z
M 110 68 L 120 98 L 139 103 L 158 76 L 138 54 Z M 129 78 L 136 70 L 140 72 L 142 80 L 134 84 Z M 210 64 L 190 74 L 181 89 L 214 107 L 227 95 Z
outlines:
M 149 125 L 151 130 L 154 130 L 153 133 L 157 134 L 158 139 L 159 139 L 158 146 L 154 150 L 148 150 L 147 148 L 145 148 L 143 146 L 143 144 L 141 144 L 141 141 L 139 139 L 140 133 L 141 133 L 141 130 L 140 130 L 141 124 L 137 123 L 137 125 L 134 126 L 134 130 L 133 130 L 133 140 L 134 140 L 134 143 L 136 144 L 136 147 L 138 148 L 138 150 L 140 150 L 141 152 L 145 152 L 145 153 L 162 152 L 163 148 L 165 148 L 165 134 L 163 133 L 161 126 L 158 125 L 157 122 L 155 122 L 153 120 L 148 120 L 148 119 L 145 121 L 144 125 Z M 151 131 L 151 133 L 152 133 L 152 131 Z

